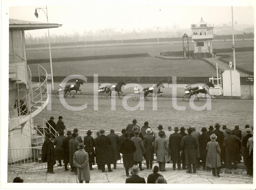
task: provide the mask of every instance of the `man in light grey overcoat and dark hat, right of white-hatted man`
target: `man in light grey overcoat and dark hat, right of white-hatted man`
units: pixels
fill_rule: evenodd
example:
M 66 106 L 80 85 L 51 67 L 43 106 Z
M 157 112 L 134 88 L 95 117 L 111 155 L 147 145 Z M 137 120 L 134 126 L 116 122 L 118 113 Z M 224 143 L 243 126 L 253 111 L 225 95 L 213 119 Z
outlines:
M 155 148 L 157 151 L 157 162 L 161 172 L 165 172 L 165 163 L 170 163 L 168 154 L 168 141 L 165 139 L 164 131 L 159 131 L 158 138 L 155 140 Z

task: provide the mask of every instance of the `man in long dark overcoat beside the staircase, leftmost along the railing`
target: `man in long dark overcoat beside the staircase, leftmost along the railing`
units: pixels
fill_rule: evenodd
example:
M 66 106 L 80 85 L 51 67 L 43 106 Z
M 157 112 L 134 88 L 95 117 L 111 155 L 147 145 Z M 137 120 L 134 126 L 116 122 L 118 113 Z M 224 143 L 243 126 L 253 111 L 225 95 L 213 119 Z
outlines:
M 56 156 L 55 150 L 53 146 L 53 142 L 51 141 L 52 135 L 50 133 L 46 133 L 45 141 L 42 146 L 42 162 L 47 162 L 47 173 L 54 174 L 53 166 L 56 164 Z

